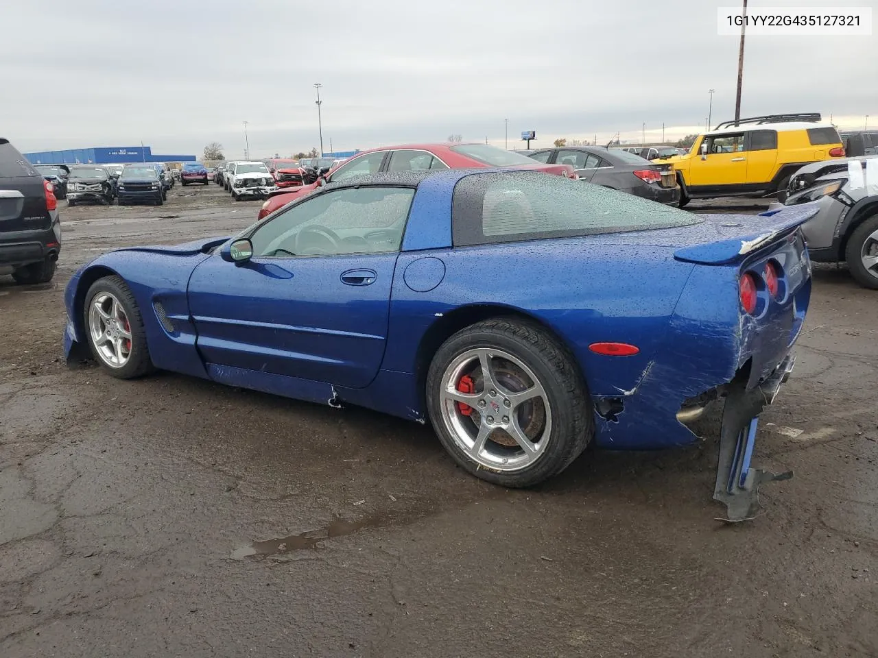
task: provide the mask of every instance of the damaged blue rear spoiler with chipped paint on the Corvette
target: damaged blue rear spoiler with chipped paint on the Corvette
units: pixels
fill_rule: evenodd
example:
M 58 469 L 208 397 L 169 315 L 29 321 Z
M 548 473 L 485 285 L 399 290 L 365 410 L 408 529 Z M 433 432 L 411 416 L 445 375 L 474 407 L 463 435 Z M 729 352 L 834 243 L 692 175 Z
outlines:
M 723 239 L 681 247 L 673 253 L 673 257 L 678 261 L 701 265 L 730 265 L 743 261 L 747 255 L 759 251 L 775 240 L 787 237 L 814 217 L 818 210 L 817 202 L 812 202 L 788 206 L 776 211 L 760 212 L 756 217 L 707 216 L 707 221 L 714 224 L 716 232 L 722 235 Z M 730 221 L 734 219 L 741 219 L 741 222 Z

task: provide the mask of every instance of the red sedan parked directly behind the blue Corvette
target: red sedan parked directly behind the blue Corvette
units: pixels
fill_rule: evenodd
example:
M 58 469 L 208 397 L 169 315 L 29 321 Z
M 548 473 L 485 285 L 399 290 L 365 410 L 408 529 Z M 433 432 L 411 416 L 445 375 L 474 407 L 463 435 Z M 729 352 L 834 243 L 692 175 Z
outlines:
M 487 144 L 407 144 L 399 147 L 374 148 L 342 162 L 326 176 L 326 182 L 343 181 L 359 175 L 381 171 L 423 171 L 425 169 L 466 168 L 535 169 L 547 174 L 576 178 L 570 165 L 543 164 L 529 157 Z M 301 185 L 295 190 L 277 190 L 269 195 L 259 211 L 262 219 L 278 208 L 311 194 L 320 181 Z

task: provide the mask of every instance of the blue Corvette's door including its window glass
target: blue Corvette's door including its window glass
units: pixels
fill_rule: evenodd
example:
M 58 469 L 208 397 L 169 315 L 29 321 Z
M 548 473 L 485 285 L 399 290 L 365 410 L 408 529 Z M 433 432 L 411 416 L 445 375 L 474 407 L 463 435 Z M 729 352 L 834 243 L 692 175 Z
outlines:
M 385 352 L 393 269 L 414 189 L 318 192 L 258 225 L 248 261 L 219 252 L 189 284 L 207 363 L 363 387 Z

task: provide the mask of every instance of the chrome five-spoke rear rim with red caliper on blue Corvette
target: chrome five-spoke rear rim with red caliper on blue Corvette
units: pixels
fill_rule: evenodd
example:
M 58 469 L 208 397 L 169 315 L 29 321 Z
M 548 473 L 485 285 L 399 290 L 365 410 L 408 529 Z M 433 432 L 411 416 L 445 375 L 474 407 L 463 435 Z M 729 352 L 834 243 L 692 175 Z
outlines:
M 534 372 L 500 349 L 473 348 L 442 376 L 442 417 L 461 450 L 480 466 L 516 471 L 534 464 L 551 437 L 551 404 Z

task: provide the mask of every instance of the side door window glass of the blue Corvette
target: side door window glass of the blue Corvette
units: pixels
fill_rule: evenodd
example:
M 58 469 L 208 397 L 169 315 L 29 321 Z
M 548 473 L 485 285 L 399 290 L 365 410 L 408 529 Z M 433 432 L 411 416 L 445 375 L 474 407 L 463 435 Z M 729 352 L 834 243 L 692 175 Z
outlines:
M 362 187 L 308 198 L 250 236 L 255 258 L 399 251 L 414 190 Z

